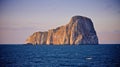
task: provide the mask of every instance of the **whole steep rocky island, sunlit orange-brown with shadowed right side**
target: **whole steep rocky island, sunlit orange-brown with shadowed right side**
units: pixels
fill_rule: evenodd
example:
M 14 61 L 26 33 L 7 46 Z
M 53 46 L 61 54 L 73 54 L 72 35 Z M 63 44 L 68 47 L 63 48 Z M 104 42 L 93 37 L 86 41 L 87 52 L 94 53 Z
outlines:
M 73 16 L 70 22 L 47 32 L 35 32 L 27 38 L 27 44 L 77 45 L 98 44 L 98 37 L 91 19 L 83 16 Z

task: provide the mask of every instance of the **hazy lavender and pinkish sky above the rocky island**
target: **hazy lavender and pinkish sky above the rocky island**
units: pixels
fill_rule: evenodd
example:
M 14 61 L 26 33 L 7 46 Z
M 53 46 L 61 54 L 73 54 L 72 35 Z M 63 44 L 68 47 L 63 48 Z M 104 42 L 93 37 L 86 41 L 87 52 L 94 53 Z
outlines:
M 0 0 L 0 44 L 23 44 L 75 15 L 92 19 L 100 44 L 120 44 L 120 0 Z

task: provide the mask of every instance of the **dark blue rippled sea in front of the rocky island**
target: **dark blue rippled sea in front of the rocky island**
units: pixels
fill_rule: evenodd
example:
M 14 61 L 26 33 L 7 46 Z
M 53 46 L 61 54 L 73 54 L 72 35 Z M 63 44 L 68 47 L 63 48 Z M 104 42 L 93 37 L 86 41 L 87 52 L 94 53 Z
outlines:
M 0 45 L 0 67 L 120 67 L 120 45 Z

